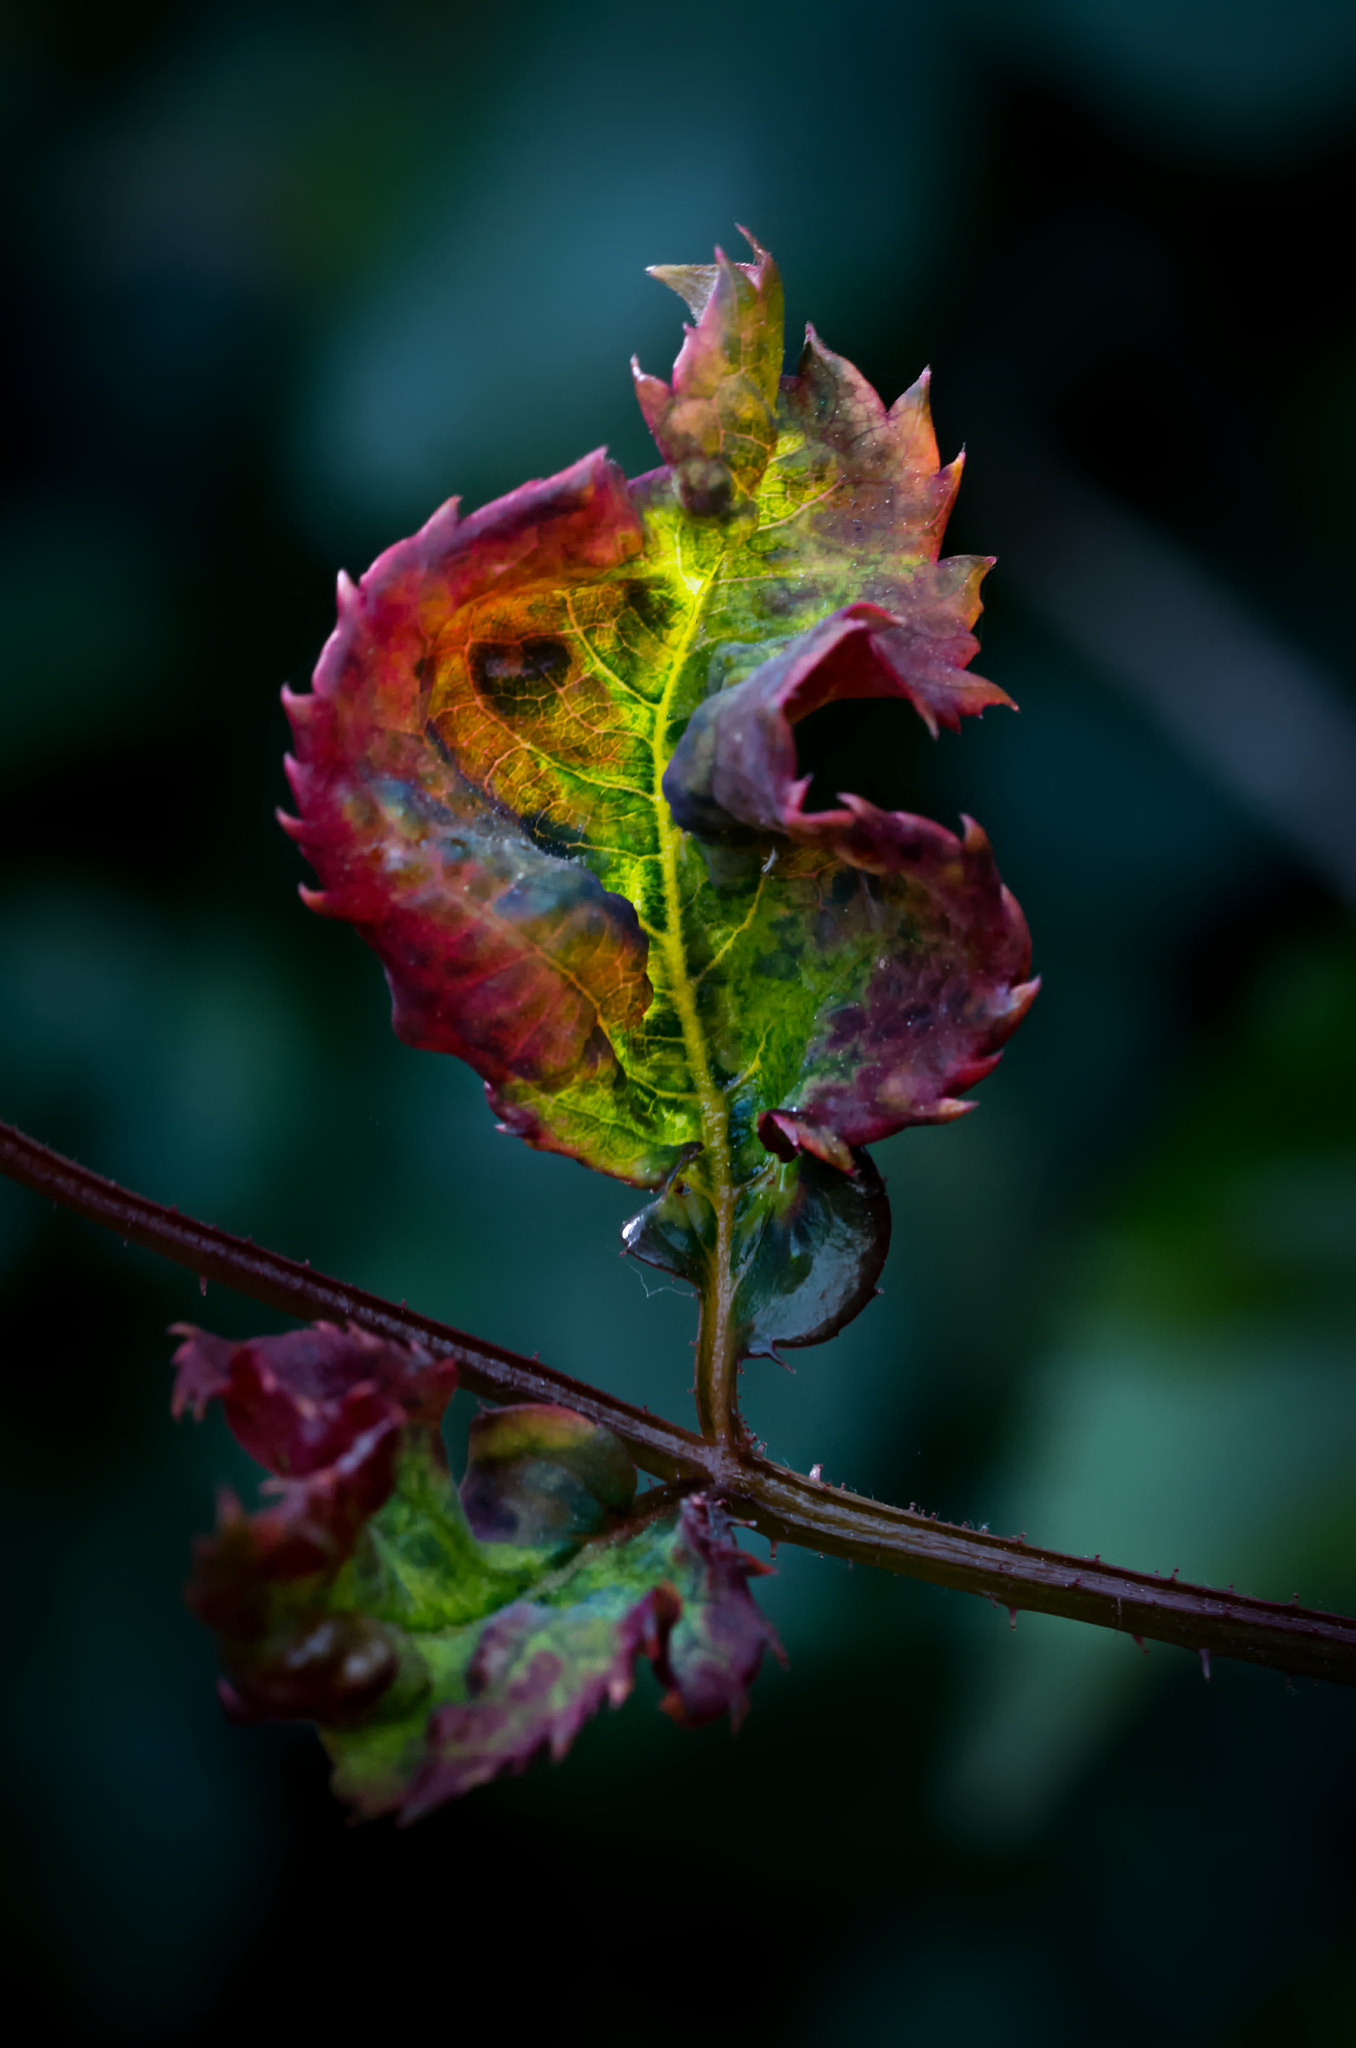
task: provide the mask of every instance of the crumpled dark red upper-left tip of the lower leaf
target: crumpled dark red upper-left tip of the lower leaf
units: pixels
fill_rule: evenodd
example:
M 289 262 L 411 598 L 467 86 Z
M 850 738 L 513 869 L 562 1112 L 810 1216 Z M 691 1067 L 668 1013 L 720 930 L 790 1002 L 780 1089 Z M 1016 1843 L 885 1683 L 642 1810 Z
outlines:
M 184 1343 L 174 1354 L 174 1415 L 190 1407 L 201 1417 L 219 1399 L 236 1440 L 274 1475 L 266 1487 L 274 1507 L 242 1518 L 227 1503 L 223 1530 L 199 1552 L 199 1579 L 213 1544 L 231 1571 L 248 1550 L 250 1571 L 266 1579 L 340 1565 L 391 1493 L 399 1432 L 412 1421 L 434 1427 L 457 1389 L 451 1358 L 332 1323 L 246 1343 L 190 1323 L 176 1335 Z M 236 1524 L 240 1530 L 227 1540 Z

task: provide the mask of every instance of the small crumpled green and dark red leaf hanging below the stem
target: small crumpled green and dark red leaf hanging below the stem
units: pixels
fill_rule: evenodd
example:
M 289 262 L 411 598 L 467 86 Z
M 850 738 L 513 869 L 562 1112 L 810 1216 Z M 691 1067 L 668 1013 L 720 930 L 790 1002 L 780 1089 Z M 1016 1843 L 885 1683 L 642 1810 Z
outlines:
M 664 1710 L 748 1708 L 776 1638 L 748 1593 L 768 1567 L 703 1497 L 635 1501 L 610 1432 L 569 1409 L 471 1425 L 453 1489 L 436 1425 L 449 1360 L 315 1325 L 227 1343 L 182 1329 L 174 1411 L 219 1399 L 281 1507 L 225 1495 L 188 1599 L 240 1720 L 309 1718 L 336 1790 L 404 1821 L 541 1751 L 561 1757 L 651 1659 Z M 324 1462 L 328 1460 L 328 1462 Z

